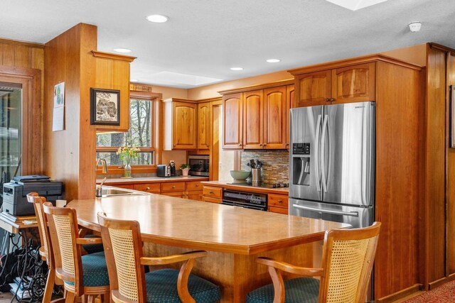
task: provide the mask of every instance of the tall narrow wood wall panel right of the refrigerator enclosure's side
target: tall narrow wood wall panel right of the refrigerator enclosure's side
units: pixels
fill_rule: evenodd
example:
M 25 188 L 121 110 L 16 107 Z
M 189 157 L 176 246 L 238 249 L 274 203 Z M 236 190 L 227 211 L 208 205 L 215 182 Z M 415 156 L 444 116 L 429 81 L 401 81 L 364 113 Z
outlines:
M 446 53 L 427 49 L 425 285 L 444 279 L 446 231 Z

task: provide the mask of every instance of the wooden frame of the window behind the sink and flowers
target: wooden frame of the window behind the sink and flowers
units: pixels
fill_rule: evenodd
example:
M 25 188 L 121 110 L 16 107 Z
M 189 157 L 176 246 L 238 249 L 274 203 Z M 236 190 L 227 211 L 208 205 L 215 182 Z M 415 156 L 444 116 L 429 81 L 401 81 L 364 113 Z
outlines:
M 153 152 L 154 153 L 154 164 L 153 165 L 131 165 L 132 167 L 132 172 L 133 173 L 151 173 L 151 172 L 156 172 L 156 163 L 159 161 L 161 158 L 161 149 L 160 149 L 160 141 L 159 141 L 159 118 L 160 118 L 160 100 L 161 100 L 161 94 L 157 93 L 152 93 L 152 92 L 139 92 L 139 91 L 130 91 L 129 92 L 129 99 L 128 101 L 131 101 L 131 99 L 141 99 L 141 100 L 147 100 L 151 102 L 151 117 L 152 117 L 152 123 L 151 123 L 151 147 L 149 148 L 141 148 L 141 152 Z M 128 106 L 128 109 L 130 109 L 130 106 Z M 100 133 L 105 133 L 105 132 L 100 132 Z M 109 146 L 103 146 L 103 147 L 98 147 L 96 146 L 96 153 L 102 153 L 102 152 L 117 152 L 119 147 L 109 147 Z M 124 173 L 124 167 L 119 166 L 119 165 L 108 165 L 108 175 L 116 175 L 116 174 L 123 174 Z M 102 167 L 101 165 L 97 167 L 97 175 L 102 175 Z

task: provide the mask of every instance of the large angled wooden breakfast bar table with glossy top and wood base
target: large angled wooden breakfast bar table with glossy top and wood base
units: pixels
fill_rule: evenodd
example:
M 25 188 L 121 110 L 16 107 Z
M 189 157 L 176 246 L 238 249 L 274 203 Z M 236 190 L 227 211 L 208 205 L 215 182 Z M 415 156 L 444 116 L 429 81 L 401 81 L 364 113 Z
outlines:
M 76 209 L 81 226 L 95 231 L 100 211 L 139 221 L 145 255 L 207 250 L 192 272 L 220 285 L 221 302 L 245 302 L 248 292 L 271 282 L 267 267 L 256 263 L 258 256 L 312 266 L 311 242 L 349 226 L 160 194 L 73 200 L 68 207 Z

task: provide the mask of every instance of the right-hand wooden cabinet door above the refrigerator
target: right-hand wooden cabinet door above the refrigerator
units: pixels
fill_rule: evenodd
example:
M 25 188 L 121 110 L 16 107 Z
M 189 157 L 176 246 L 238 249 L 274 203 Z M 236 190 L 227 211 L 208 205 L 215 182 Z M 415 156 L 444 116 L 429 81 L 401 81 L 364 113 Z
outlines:
M 332 70 L 332 101 L 375 101 L 375 63 Z

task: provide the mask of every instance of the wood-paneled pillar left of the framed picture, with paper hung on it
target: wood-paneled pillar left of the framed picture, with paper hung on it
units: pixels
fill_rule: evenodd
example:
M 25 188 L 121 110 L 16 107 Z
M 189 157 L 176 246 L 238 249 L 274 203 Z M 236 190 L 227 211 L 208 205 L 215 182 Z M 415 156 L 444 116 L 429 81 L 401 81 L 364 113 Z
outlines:
M 95 84 L 97 28 L 80 23 L 45 44 L 44 172 L 65 182 L 65 199 L 95 197 L 95 126 L 90 87 Z M 52 131 L 53 89 L 65 82 L 65 130 Z

